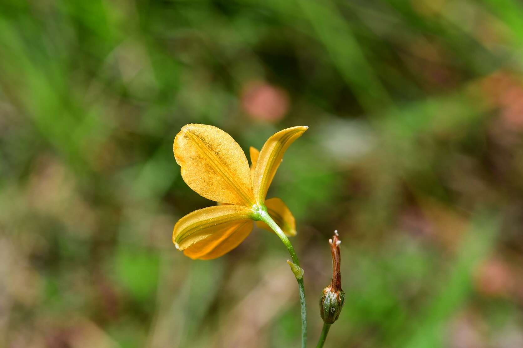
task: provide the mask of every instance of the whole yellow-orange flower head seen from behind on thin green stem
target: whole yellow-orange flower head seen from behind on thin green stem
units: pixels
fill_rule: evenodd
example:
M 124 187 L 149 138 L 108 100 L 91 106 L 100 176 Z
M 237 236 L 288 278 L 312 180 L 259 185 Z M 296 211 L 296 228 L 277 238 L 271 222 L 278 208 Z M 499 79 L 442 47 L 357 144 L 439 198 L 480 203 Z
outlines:
M 249 169 L 245 153 L 223 130 L 201 124 L 182 127 L 173 145 L 181 177 L 196 193 L 219 203 L 193 211 L 176 223 L 176 248 L 192 259 L 217 258 L 238 246 L 253 230 L 254 221 L 272 231 L 260 221 L 270 218 L 286 235 L 295 235 L 289 208 L 281 199 L 265 200 L 265 196 L 283 154 L 308 128 L 283 129 L 272 135 L 261 151 L 251 147 Z

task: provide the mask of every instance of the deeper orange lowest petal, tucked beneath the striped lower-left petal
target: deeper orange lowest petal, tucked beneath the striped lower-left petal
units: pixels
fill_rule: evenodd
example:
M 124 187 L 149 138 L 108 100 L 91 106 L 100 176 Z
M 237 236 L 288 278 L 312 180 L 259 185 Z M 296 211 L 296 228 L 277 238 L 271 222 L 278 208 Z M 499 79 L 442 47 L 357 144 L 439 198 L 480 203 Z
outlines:
M 241 220 L 225 224 L 210 237 L 192 244 L 184 250 L 191 259 L 210 260 L 229 253 L 237 247 L 253 230 L 254 221 Z

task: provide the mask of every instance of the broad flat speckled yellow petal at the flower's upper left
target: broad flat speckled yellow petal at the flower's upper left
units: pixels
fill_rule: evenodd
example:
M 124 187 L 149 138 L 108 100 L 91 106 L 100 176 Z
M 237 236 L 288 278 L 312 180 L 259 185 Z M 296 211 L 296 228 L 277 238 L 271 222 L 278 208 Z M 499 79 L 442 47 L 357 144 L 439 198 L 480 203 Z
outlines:
M 188 124 L 174 138 L 174 157 L 181 177 L 201 196 L 252 206 L 249 164 L 240 145 L 220 128 Z

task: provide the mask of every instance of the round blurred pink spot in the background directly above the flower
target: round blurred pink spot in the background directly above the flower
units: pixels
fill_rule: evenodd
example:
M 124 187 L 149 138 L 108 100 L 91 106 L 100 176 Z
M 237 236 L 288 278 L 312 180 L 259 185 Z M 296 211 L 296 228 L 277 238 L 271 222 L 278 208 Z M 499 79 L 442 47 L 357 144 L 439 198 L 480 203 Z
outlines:
M 241 99 L 245 112 L 261 121 L 278 122 L 289 110 L 287 92 L 263 81 L 247 83 Z

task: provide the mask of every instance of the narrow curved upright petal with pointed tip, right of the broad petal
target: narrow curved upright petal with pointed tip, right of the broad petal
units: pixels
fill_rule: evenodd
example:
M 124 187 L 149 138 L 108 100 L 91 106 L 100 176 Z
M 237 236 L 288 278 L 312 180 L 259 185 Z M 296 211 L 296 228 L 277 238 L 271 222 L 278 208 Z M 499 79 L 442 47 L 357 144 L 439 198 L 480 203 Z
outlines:
M 272 178 L 274 178 L 287 148 L 308 128 L 308 126 L 296 126 L 283 129 L 265 142 L 259 153 L 253 176 L 254 197 L 257 203 L 264 202 Z

